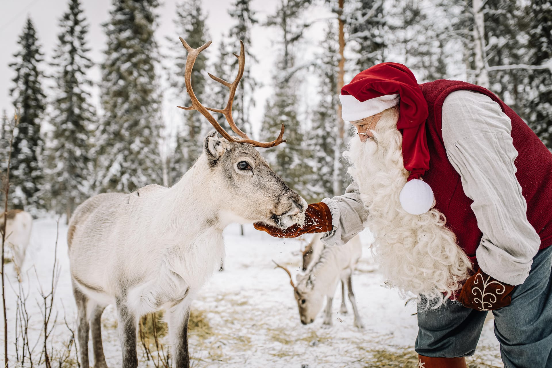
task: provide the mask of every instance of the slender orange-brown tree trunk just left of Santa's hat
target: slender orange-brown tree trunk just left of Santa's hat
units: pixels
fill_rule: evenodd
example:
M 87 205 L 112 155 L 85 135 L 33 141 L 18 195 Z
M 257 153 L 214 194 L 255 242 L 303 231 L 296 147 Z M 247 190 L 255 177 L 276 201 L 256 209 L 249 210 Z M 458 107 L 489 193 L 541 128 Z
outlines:
M 344 0 L 339 0 L 338 9 L 337 9 L 337 20 L 339 22 L 339 63 L 338 63 L 338 73 L 337 73 L 337 94 L 341 94 L 341 88 L 343 87 L 343 77 L 345 74 L 345 33 L 343 30 L 343 2 Z M 342 194 L 341 190 L 341 162 L 339 158 L 341 157 L 341 148 L 343 146 L 343 138 L 345 135 L 344 122 L 341 117 L 341 102 L 337 103 L 337 139 L 336 147 L 333 151 L 333 195 Z

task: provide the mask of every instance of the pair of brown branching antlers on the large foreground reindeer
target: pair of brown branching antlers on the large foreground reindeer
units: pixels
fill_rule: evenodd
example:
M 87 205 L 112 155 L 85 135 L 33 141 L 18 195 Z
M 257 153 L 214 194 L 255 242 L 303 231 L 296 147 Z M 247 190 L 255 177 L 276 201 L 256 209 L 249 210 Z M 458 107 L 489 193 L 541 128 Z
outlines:
M 272 142 L 258 142 L 250 139 L 247 134 L 245 134 L 243 131 L 240 130 L 236 126 L 236 123 L 234 122 L 234 119 L 232 118 L 232 103 L 234 100 L 234 95 L 236 94 L 236 89 L 238 87 L 238 83 L 240 83 L 240 79 L 243 76 L 243 69 L 245 68 L 245 49 L 243 47 L 243 42 L 240 40 L 240 55 L 233 54 L 238 58 L 238 74 L 236 76 L 236 79 L 232 83 L 226 82 L 224 79 L 218 78 L 213 76 L 211 73 L 209 74 L 209 77 L 213 78 L 214 81 L 219 82 L 223 84 L 224 86 L 228 87 L 230 89 L 230 95 L 228 97 L 228 102 L 226 103 L 226 107 L 224 109 L 211 109 L 203 106 L 197 97 L 195 97 L 194 90 L 192 89 L 192 68 L 194 67 L 195 59 L 198 57 L 199 53 L 203 50 L 205 50 L 209 45 L 211 44 L 211 41 L 207 42 L 205 45 L 198 47 L 197 49 L 193 49 L 190 47 L 186 41 L 182 37 L 179 37 L 179 39 L 182 42 L 182 45 L 185 47 L 186 50 L 188 50 L 188 57 L 186 58 L 186 67 L 184 70 L 184 82 L 186 84 L 186 90 L 188 92 L 188 95 L 190 97 L 190 100 L 192 101 L 192 106 L 183 107 L 178 106 L 181 109 L 184 110 L 197 110 L 201 113 L 201 115 L 205 116 L 207 120 L 213 125 L 217 132 L 220 133 L 221 136 L 226 138 L 227 141 L 230 142 L 238 142 L 238 143 L 250 143 L 253 146 L 257 147 L 274 147 L 278 146 L 280 143 L 285 142 L 285 140 L 282 139 L 284 136 L 284 124 L 282 124 L 282 129 L 280 129 L 280 134 L 278 135 L 278 138 L 276 138 Z M 214 118 L 209 111 L 213 111 L 214 113 L 220 113 L 225 116 L 226 121 L 228 121 L 228 124 L 232 128 L 232 130 L 242 137 L 242 139 L 234 139 L 230 134 L 228 134 L 219 124 L 218 121 Z

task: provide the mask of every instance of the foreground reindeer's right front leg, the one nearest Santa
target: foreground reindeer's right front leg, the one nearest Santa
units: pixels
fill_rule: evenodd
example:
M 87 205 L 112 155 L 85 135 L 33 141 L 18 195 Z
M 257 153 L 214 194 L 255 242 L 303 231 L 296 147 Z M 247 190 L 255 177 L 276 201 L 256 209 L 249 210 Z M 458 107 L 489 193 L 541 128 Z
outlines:
M 189 317 L 190 306 L 187 302 L 181 302 L 168 310 L 169 337 L 172 345 L 174 367 L 176 368 L 189 368 L 190 366 L 188 353 Z

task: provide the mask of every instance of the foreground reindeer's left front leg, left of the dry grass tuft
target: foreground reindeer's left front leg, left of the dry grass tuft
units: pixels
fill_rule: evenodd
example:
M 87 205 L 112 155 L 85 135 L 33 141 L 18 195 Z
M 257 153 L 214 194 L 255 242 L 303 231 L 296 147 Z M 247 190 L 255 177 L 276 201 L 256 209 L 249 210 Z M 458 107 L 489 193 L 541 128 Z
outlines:
M 136 368 L 138 356 L 136 355 L 136 325 L 137 317 L 121 298 L 115 300 L 119 319 L 119 339 L 123 350 L 123 368 Z

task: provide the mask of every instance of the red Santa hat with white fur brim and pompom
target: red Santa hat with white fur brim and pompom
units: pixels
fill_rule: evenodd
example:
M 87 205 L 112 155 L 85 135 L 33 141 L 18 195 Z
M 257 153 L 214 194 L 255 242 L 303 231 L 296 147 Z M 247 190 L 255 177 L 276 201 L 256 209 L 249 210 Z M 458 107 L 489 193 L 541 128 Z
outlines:
M 343 86 L 339 99 L 343 120 L 348 121 L 399 105 L 397 129 L 402 133 L 405 169 L 410 171 L 408 183 L 401 191 L 401 204 L 411 214 L 427 212 L 433 205 L 433 191 L 418 179 L 429 169 L 425 124 L 428 108 L 414 74 L 399 63 L 380 63 L 358 73 Z

